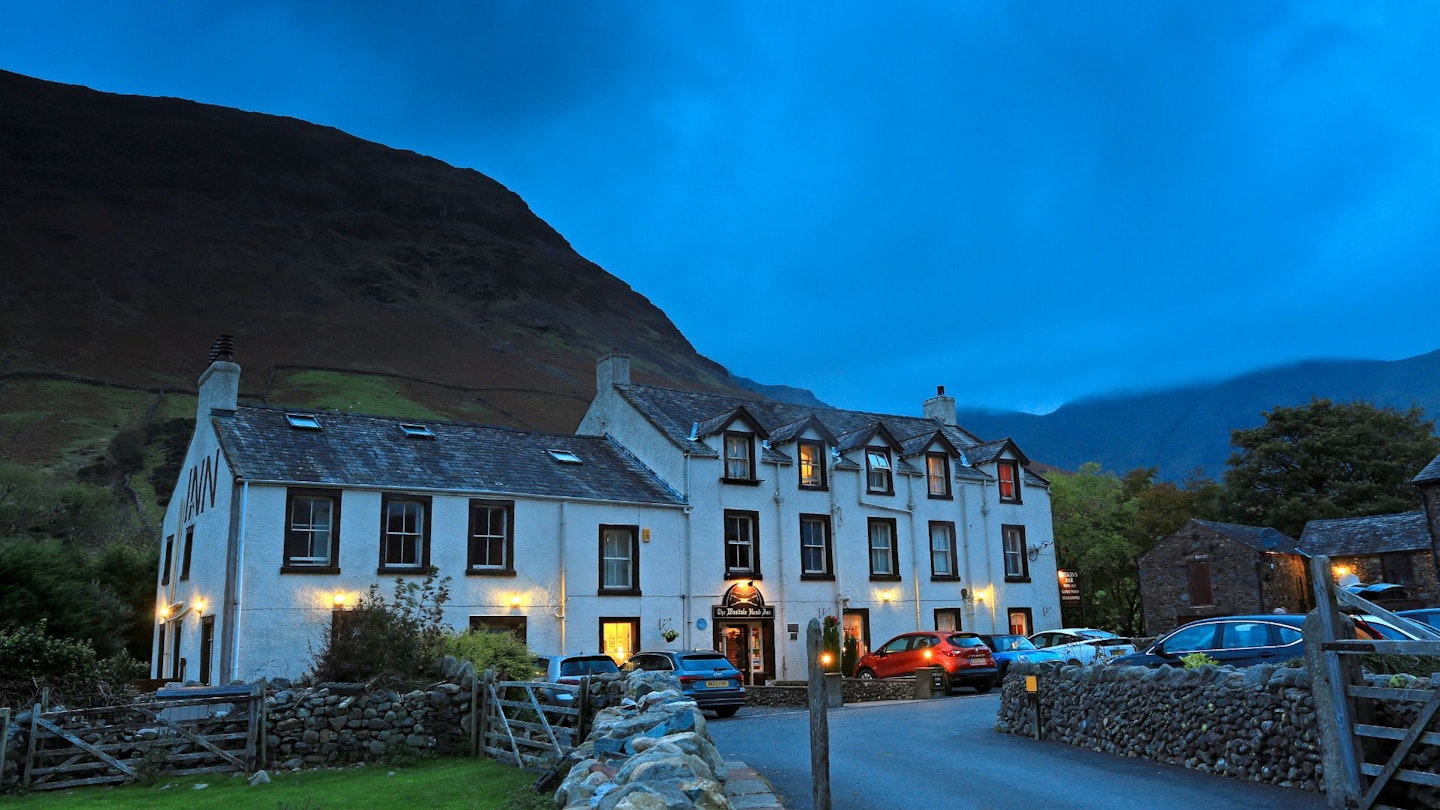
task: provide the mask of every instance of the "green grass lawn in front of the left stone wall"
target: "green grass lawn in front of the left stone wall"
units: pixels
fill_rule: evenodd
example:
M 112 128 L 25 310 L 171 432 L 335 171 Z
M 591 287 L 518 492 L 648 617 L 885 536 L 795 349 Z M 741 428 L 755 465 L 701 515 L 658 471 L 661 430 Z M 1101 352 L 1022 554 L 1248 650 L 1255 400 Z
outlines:
M 251 787 L 243 775 L 161 777 L 153 785 L 84 787 L 0 797 L 4 810 L 104 807 L 105 810 L 361 810 L 366 807 L 462 807 L 474 810 L 543 810 L 550 794 L 530 790 L 536 774 L 490 760 L 423 760 L 415 765 L 357 765 L 324 771 L 271 774 Z M 196 785 L 209 785 L 196 790 Z

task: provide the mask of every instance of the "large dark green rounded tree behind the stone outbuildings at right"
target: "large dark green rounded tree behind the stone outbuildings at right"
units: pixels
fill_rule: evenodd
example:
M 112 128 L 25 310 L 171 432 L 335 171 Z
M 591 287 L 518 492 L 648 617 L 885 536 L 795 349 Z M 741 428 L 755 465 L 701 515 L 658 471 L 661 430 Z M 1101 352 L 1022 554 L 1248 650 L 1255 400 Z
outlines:
M 1410 480 L 1440 454 L 1434 421 L 1417 406 L 1312 399 L 1277 406 L 1264 419 L 1230 434 L 1228 517 L 1292 538 L 1309 520 L 1417 509 Z

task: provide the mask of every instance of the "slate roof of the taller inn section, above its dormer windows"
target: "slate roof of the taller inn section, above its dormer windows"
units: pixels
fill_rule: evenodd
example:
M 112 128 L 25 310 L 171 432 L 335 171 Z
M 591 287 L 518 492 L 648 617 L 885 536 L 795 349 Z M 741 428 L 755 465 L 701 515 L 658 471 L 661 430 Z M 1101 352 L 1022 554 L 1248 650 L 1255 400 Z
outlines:
M 714 419 L 719 417 L 732 414 L 736 408 L 743 406 L 757 422 L 757 427 L 772 437 L 772 445 L 796 438 L 799 431 L 795 427 L 814 417 L 832 437 L 837 437 L 835 444 L 842 450 L 852 450 L 852 447 L 847 445 L 847 441 L 852 442 L 855 438 L 854 434 L 868 432 L 878 424 L 901 448 L 916 437 L 930 437 L 939 431 L 971 464 L 994 461 L 1005 447 L 1011 447 L 1021 455 L 1021 464 L 1028 463 L 1020 448 L 1009 440 L 981 441 L 979 437 L 965 428 L 945 425 L 927 417 L 899 417 L 867 411 L 844 411 L 840 408 L 811 408 L 788 402 L 768 402 L 697 391 L 675 391 L 651 385 L 616 385 L 615 389 L 660 428 L 670 441 L 691 455 L 716 455 L 716 451 L 704 442 L 690 438 L 693 425 L 714 424 Z M 963 464 L 956 464 L 955 467 L 959 477 L 991 479 L 986 473 Z M 857 468 L 857 464 L 848 458 L 841 458 L 837 463 L 837 468 Z M 913 467 L 909 467 L 906 471 L 919 473 Z M 1022 480 L 1032 486 L 1050 483 L 1030 470 L 1022 473 Z

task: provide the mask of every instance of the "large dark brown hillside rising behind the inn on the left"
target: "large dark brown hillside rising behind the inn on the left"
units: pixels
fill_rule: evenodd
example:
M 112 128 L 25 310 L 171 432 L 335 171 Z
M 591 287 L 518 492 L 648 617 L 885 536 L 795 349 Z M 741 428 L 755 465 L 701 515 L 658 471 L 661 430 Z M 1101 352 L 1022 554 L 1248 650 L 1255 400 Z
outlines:
M 573 430 L 611 349 L 744 388 L 478 172 L 7 72 L 0 110 L 0 458 L 73 468 L 187 415 L 219 333 L 278 404 Z

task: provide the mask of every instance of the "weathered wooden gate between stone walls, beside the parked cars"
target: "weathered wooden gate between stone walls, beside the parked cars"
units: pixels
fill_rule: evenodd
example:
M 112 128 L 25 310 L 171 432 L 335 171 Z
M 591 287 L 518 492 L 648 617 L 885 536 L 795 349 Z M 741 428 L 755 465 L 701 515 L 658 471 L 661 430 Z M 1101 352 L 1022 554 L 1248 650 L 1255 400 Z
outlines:
M 487 672 L 480 683 L 484 709 L 477 754 L 527 771 L 553 768 L 589 732 L 589 677 L 582 677 L 577 686 L 497 682 Z

